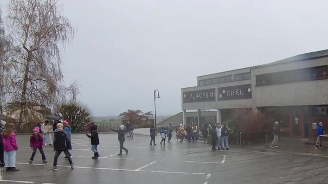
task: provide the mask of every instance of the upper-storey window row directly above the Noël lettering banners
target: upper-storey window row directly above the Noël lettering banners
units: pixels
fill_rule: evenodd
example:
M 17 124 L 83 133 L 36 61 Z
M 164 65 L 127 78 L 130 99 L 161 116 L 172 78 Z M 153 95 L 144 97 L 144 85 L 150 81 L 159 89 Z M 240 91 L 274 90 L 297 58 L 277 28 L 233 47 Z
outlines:
M 235 75 L 235 81 L 248 80 L 248 79 L 251 79 L 250 72 Z M 232 82 L 232 75 L 224 76 L 224 77 L 217 77 L 217 78 L 212 78 L 212 79 L 206 79 L 206 80 L 200 80 L 199 86 L 220 84 L 220 83 L 225 83 L 225 82 Z

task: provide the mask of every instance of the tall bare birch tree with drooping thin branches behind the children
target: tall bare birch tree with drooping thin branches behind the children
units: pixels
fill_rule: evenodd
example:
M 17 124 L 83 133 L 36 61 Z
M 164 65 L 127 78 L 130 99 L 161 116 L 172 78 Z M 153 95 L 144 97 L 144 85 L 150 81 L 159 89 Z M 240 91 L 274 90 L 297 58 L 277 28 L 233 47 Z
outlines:
M 72 40 L 74 29 L 56 0 L 11 0 L 8 20 L 18 51 L 11 95 L 20 102 L 21 126 L 28 102 L 50 105 L 65 97 L 58 44 Z

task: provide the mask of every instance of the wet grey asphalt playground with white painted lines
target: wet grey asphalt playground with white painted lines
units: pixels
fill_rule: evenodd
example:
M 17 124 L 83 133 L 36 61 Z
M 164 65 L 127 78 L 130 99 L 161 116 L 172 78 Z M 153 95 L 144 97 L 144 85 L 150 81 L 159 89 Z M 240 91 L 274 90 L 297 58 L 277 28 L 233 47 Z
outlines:
M 117 156 L 117 134 L 99 134 L 98 160 L 91 159 L 90 141 L 85 134 L 72 135 L 71 170 L 64 153 L 58 170 L 49 172 L 54 151 L 46 146 L 47 164 L 37 154 L 32 165 L 28 160 L 30 135 L 18 135 L 16 152 L 18 172 L 0 170 L 0 183 L 328 183 L 327 158 L 309 155 L 231 148 L 211 151 L 203 143 L 177 142 L 150 146 L 149 136 L 126 137 L 128 155 Z

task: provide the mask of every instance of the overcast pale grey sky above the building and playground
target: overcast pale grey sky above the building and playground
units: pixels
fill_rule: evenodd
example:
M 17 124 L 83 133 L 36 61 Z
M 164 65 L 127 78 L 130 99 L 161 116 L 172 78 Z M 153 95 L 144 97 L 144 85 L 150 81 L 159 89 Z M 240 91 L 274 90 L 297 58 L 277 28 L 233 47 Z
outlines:
M 2 9 L 7 0 L 0 0 Z M 59 0 L 76 28 L 67 83 L 94 116 L 181 111 L 196 77 L 328 49 L 328 1 Z

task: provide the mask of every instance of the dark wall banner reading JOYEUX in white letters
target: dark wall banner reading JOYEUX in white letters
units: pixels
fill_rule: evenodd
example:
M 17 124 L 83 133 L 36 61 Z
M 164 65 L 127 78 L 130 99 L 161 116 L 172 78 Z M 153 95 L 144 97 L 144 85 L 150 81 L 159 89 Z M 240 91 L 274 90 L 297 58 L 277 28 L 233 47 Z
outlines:
M 215 101 L 215 88 L 183 92 L 183 103 Z

